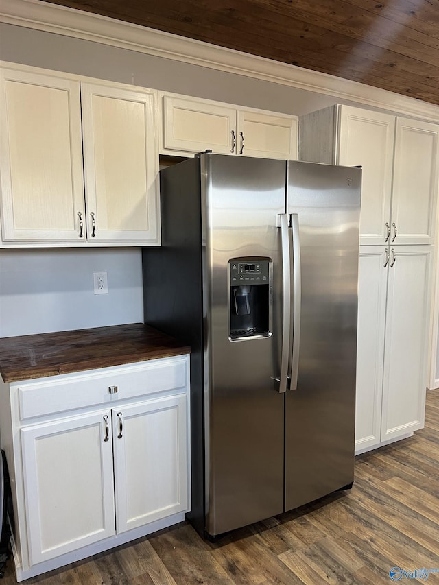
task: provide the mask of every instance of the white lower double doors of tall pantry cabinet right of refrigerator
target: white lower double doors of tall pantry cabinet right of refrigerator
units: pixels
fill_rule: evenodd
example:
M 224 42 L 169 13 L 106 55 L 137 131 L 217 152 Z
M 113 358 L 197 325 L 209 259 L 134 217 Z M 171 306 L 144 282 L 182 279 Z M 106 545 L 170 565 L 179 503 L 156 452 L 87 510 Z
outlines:
M 424 426 L 429 246 L 361 246 L 355 448 L 362 453 Z

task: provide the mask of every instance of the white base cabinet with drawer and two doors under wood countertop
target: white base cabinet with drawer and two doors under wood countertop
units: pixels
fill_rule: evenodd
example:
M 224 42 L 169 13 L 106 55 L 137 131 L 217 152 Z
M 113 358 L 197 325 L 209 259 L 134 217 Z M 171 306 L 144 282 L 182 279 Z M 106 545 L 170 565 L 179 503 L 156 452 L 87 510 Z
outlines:
M 190 510 L 188 355 L 1 382 L 0 392 L 17 580 Z

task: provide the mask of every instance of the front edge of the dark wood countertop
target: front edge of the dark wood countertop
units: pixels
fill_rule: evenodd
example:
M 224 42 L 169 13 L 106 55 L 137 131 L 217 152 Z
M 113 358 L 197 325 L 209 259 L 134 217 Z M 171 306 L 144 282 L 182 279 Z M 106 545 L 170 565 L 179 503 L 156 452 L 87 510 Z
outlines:
M 0 366 L 0 374 L 5 384 L 24 382 L 29 380 L 36 380 L 39 378 L 49 378 L 62 376 L 62 374 L 79 374 L 80 372 L 87 372 L 90 370 L 102 370 L 103 368 L 112 368 L 114 366 L 127 366 L 130 363 L 142 363 L 143 361 L 150 361 L 152 359 L 162 359 L 165 357 L 175 357 L 177 355 L 186 355 L 191 353 L 189 346 L 181 346 L 176 348 L 158 348 L 151 350 L 147 354 L 137 356 L 121 356 L 117 355 L 114 358 L 107 358 L 106 363 L 93 363 L 93 359 L 78 361 L 75 363 L 63 363 L 60 366 L 32 366 L 28 370 L 9 371 L 4 372 Z

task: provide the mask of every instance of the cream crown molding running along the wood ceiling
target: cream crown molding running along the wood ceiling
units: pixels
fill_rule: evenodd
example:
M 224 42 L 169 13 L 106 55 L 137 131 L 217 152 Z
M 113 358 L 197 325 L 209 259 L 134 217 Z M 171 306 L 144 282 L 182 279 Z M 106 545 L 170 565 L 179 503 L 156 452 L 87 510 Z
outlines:
M 439 121 L 439 106 L 412 97 L 40 0 L 1 0 L 0 22 L 323 93 L 436 123 Z

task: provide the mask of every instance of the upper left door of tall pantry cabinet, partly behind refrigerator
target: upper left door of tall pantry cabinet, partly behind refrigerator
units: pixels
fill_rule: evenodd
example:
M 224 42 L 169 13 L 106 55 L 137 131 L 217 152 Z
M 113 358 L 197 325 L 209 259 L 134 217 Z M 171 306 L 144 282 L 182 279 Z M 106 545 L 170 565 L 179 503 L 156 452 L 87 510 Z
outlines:
M 360 243 L 382 244 L 390 224 L 394 116 L 340 106 L 339 165 L 361 166 Z

